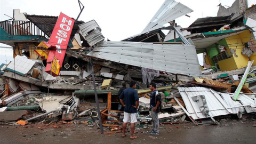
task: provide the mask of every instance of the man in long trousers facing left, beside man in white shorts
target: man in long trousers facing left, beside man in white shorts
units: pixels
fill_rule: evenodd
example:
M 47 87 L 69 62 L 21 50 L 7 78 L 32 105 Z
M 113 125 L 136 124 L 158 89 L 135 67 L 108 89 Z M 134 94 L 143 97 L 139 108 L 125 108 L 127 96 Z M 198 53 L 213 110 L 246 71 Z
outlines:
M 151 108 L 151 117 L 153 121 L 153 129 L 150 132 L 151 135 L 159 135 L 159 119 L 158 113 L 160 109 L 158 106 L 160 105 L 161 98 L 157 97 L 158 91 L 156 90 L 156 84 L 150 83 L 149 89 L 152 91 L 150 95 L 150 108 Z

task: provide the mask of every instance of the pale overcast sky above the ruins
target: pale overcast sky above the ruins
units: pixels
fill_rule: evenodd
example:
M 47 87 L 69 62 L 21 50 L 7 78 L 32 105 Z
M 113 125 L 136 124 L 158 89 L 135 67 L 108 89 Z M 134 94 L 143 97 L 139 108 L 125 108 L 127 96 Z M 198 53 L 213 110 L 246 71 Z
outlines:
M 235 0 L 177 0 L 194 10 L 190 18 L 182 16 L 175 21 L 185 28 L 197 18 L 216 17 L 220 3 L 231 6 Z M 102 35 L 110 41 L 121 41 L 127 37 L 139 34 L 157 12 L 164 0 L 81 0 L 84 10 L 78 20 L 84 22 L 95 20 L 102 29 Z M 249 7 L 256 0 L 248 0 Z M 76 0 L 0 0 L 0 21 L 13 17 L 13 9 L 36 15 L 59 16 L 60 12 L 77 18 L 80 8 Z M 6 15 L 4 15 L 6 14 Z M 0 45 L 1 46 L 1 45 Z M 1 50 L 2 51 L 2 50 Z M 0 54 L 2 53 L 0 51 Z M 6 61 L 6 60 L 5 60 Z M 2 63 L 2 56 L 1 61 Z

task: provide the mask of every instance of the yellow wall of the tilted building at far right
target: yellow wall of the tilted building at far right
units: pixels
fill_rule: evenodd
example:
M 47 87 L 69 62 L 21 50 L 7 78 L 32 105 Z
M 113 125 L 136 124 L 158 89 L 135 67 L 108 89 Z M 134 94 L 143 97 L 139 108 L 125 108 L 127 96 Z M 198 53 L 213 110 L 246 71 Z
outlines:
M 245 30 L 244 32 L 238 35 L 225 38 L 227 42 L 226 48 L 228 53 L 230 54 L 229 49 L 233 49 L 235 50 L 236 55 L 238 57 L 235 57 L 235 55 L 233 55 L 233 57 L 229 59 L 219 61 L 218 64 L 221 71 L 240 69 L 247 66 L 249 58 L 242 54 L 242 50 L 244 48 L 244 43 L 250 40 L 250 36 L 251 36 L 250 31 Z

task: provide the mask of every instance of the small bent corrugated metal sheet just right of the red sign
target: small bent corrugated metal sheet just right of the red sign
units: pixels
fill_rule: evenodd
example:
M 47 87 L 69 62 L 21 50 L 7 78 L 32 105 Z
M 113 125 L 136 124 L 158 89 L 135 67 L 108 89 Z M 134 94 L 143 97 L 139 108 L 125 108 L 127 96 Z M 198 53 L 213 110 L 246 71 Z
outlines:
M 83 23 L 79 25 L 79 33 L 85 38 L 87 43 L 92 46 L 98 42 L 101 42 L 105 37 L 101 34 L 101 29 L 95 20 Z

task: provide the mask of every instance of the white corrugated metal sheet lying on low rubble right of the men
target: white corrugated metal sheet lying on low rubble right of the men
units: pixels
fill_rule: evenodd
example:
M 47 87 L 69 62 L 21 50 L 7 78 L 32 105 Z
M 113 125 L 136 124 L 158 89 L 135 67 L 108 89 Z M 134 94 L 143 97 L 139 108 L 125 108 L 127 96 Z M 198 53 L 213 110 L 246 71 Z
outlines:
M 203 115 L 202 111 L 200 110 L 200 108 L 198 106 L 198 103 L 191 99 L 191 97 L 194 97 L 194 96 L 197 96 L 197 95 L 204 95 L 205 96 L 207 106 L 209 107 L 209 110 L 210 110 L 209 111 L 210 116 L 214 117 L 214 116 L 228 115 L 229 114 L 229 111 L 227 111 L 226 109 L 223 109 L 223 108 L 229 107 L 229 106 L 221 98 L 221 96 L 215 91 L 213 91 L 213 92 L 215 93 L 216 97 L 210 91 L 210 89 L 208 89 L 206 87 L 178 87 L 178 90 L 179 90 L 180 95 L 181 95 L 181 97 L 182 97 L 182 99 L 183 99 L 183 101 L 186 105 L 186 109 L 187 109 L 188 113 L 194 119 L 209 117 L 207 115 Z M 188 95 L 186 94 L 185 90 L 187 91 Z M 222 104 L 219 102 L 219 100 L 217 98 L 221 101 L 221 103 L 225 107 L 222 106 Z M 192 104 L 190 103 L 189 99 L 191 100 Z M 192 105 L 194 105 L 194 108 L 193 108 Z M 195 114 L 194 109 L 196 110 L 197 115 L 199 116 L 199 118 Z

